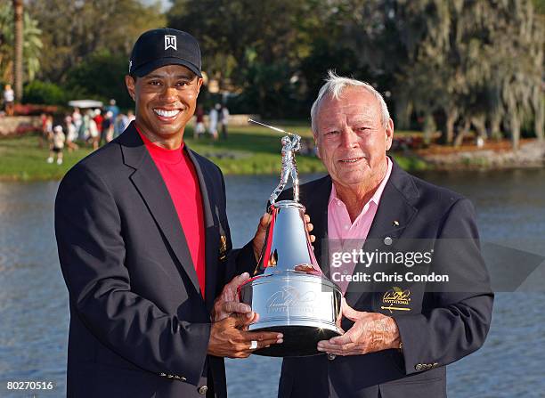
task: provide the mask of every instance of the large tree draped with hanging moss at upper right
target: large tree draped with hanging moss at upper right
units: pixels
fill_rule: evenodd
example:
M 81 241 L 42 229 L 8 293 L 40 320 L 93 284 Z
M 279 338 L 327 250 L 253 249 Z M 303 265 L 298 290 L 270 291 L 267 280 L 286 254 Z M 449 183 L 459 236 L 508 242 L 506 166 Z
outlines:
M 427 117 L 443 111 L 446 142 L 460 145 L 470 126 L 483 138 L 488 129 L 497 136 L 504 120 L 517 149 L 522 122 L 532 116 L 542 137 L 543 29 L 531 2 L 398 5 L 395 20 L 408 54 L 399 86 Z M 462 128 L 454 139 L 456 122 Z

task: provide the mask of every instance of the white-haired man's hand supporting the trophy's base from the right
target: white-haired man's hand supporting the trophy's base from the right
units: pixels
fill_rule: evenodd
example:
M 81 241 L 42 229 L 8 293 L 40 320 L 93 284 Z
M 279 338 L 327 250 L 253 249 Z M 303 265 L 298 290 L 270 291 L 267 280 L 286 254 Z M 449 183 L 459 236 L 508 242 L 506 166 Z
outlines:
M 318 351 L 336 355 L 362 355 L 399 348 L 401 338 L 393 318 L 382 313 L 355 311 L 343 298 L 343 316 L 354 325 L 344 335 L 318 342 Z

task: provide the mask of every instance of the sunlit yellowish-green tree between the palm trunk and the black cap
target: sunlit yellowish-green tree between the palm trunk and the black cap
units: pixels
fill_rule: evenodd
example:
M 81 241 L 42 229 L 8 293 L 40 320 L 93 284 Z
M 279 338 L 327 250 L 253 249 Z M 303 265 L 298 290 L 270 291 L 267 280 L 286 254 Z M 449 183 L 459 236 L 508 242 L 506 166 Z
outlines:
M 65 82 L 69 69 L 103 50 L 125 57 L 128 68 L 136 38 L 145 30 L 166 25 L 159 3 L 147 6 L 138 0 L 27 0 L 26 4 L 43 30 L 45 51 L 38 77 L 60 84 Z

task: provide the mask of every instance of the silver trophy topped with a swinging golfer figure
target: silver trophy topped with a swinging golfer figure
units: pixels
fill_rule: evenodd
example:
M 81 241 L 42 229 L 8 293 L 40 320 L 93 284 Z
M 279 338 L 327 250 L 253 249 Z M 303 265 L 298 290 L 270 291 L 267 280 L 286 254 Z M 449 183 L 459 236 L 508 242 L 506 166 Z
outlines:
M 262 123 L 257 123 L 262 126 Z M 271 126 L 267 126 L 271 127 Z M 271 127 L 286 133 L 283 130 Z M 305 225 L 305 207 L 298 203 L 299 181 L 295 153 L 301 137 L 286 133 L 282 137 L 281 182 L 270 198 L 271 223 L 252 278 L 239 288 L 240 302 L 259 313 L 252 331 L 276 331 L 284 342 L 256 350 L 267 356 L 305 356 L 319 354 L 320 340 L 338 336 L 342 294 L 338 286 L 321 272 Z M 289 176 L 293 200 L 276 201 Z

